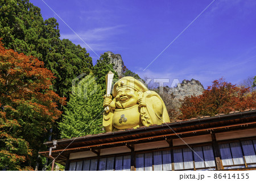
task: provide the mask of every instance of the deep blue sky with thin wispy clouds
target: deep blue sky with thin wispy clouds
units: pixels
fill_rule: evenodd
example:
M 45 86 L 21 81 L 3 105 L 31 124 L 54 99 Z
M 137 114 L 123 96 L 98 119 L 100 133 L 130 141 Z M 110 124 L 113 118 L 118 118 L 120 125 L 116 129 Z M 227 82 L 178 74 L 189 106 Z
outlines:
M 212 1 L 44 0 L 94 53 L 42 0 L 30 0 L 94 64 L 96 54 L 112 51 L 141 78 L 194 78 L 205 88 L 221 77 L 240 83 L 256 75 L 255 0 L 216 0 L 181 33 Z

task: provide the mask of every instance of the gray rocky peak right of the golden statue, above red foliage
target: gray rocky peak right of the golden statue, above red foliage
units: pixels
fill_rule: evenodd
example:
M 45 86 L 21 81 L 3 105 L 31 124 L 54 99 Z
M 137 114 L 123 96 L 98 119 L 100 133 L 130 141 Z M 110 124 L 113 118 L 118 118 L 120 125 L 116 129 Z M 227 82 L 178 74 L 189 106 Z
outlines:
M 199 81 L 191 79 L 191 81 L 183 80 L 176 87 L 170 88 L 169 94 L 173 93 L 176 99 L 184 99 L 185 96 L 200 95 L 204 91 L 204 86 Z

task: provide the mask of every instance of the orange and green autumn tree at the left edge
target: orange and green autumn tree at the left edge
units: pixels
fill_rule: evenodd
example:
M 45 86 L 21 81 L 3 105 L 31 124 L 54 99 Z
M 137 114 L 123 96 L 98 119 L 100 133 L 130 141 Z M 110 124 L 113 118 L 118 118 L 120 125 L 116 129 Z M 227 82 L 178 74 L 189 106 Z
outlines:
M 32 170 L 31 159 L 64 104 L 51 90 L 55 77 L 35 57 L 5 49 L 0 41 L 0 169 Z

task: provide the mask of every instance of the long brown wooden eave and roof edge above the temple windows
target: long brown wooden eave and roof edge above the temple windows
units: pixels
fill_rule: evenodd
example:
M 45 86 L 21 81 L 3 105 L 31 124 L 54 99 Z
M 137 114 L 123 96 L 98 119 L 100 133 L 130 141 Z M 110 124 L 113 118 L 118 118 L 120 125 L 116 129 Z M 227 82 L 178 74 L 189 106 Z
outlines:
M 256 127 L 256 110 L 236 111 L 226 115 L 57 140 L 57 146 L 56 149 L 52 150 L 52 156 L 54 158 L 57 157 L 56 162 L 65 165 L 65 160 L 69 158 L 69 154 L 78 151 L 98 150 L 142 142 L 190 137 L 209 134 L 209 132 L 218 133 L 245 129 L 243 127 L 246 127 L 246 129 Z M 44 144 L 52 147 L 53 141 L 48 141 Z M 49 151 L 42 151 L 40 154 L 48 157 Z

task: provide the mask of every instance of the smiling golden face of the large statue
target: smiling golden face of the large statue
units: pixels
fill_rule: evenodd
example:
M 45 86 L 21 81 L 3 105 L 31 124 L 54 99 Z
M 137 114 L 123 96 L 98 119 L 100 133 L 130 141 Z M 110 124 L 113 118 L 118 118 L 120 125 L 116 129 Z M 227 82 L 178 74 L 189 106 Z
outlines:
M 138 94 L 137 91 L 130 87 L 121 87 L 115 96 L 115 106 L 118 108 L 131 107 L 137 104 Z

